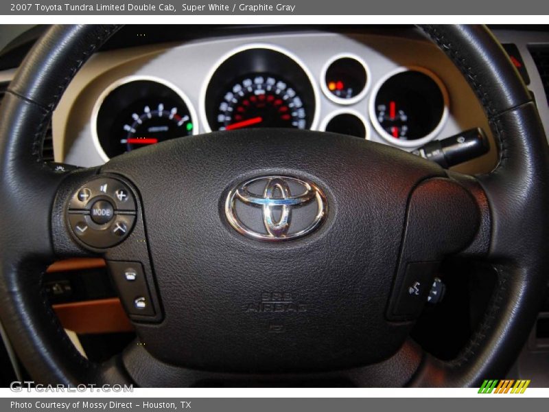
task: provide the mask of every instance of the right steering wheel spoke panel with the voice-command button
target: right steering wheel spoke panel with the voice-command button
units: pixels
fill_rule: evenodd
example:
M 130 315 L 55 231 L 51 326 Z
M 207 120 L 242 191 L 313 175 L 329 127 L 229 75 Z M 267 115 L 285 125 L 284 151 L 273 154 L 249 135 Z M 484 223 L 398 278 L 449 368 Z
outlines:
M 456 179 L 436 177 L 412 190 L 388 319 L 411 321 L 419 317 L 445 256 L 483 252 L 479 228 L 487 212 L 481 211 L 483 206 L 472 192 L 477 188 L 474 179 L 467 179 L 467 186 Z M 475 193 L 482 201 L 482 191 Z

